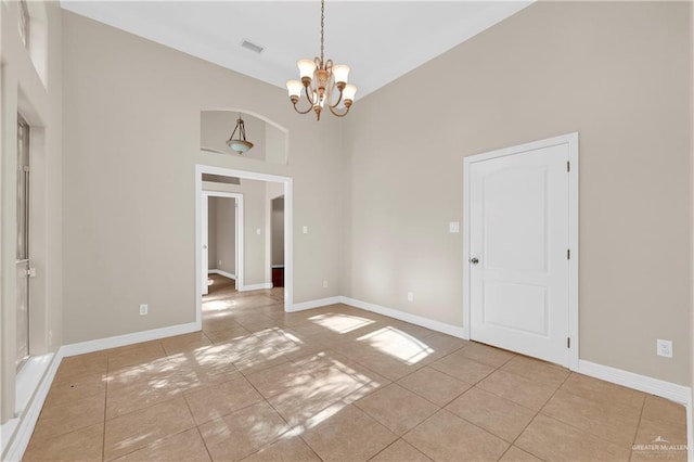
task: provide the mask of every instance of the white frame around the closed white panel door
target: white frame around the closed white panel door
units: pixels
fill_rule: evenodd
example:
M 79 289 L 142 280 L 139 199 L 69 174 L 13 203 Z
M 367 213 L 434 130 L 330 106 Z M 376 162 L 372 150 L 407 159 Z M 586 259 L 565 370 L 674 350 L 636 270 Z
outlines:
M 483 154 L 467 156 L 463 159 L 463 333 L 465 338 L 471 338 L 471 309 L 470 309 L 470 167 L 472 164 L 488 161 L 490 158 L 522 154 L 538 149 L 551 147 L 561 144 L 568 145 L 569 171 L 568 171 L 568 242 L 570 259 L 568 261 L 568 335 L 570 348 L 567 363 L 562 364 L 571 371 L 578 370 L 579 360 L 579 332 L 578 332 L 578 132 L 567 133 L 545 140 L 532 141 L 516 146 L 504 147 Z

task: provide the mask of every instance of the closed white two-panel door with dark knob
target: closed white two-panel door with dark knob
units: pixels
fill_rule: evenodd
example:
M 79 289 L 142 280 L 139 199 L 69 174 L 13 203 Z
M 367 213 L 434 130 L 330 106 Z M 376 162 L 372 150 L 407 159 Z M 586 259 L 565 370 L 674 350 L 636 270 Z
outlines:
M 471 338 L 567 364 L 567 144 L 468 164 Z

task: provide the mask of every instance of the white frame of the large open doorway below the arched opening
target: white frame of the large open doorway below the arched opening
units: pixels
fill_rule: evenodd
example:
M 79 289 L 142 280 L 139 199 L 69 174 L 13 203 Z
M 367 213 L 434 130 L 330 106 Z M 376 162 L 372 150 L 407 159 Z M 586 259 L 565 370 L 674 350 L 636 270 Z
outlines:
M 235 170 L 210 165 L 195 165 L 195 322 L 202 325 L 203 287 L 202 287 L 202 201 L 203 174 L 236 177 L 246 180 L 274 181 L 284 185 L 284 311 L 290 311 L 293 304 L 294 261 L 293 261 L 293 185 L 292 178 L 255 171 Z M 236 253 L 239 254 L 239 253 Z

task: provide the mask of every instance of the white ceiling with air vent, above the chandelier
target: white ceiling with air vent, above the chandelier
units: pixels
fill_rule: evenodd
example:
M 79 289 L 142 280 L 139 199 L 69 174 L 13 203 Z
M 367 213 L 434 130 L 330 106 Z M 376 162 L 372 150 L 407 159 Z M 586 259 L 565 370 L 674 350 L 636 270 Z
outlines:
M 515 1 L 325 3 L 325 59 L 349 64 L 357 99 L 530 4 Z M 62 0 L 65 10 L 284 88 L 320 54 L 320 1 Z M 241 47 L 246 39 L 265 50 Z

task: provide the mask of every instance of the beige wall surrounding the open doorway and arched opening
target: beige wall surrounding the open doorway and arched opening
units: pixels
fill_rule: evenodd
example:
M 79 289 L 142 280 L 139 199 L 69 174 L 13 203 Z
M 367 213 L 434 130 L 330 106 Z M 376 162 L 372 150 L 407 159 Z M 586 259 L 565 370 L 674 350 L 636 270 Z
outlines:
M 317 130 L 285 90 L 72 13 L 63 22 L 65 343 L 194 321 L 195 164 L 292 177 L 296 227 L 313 230 L 295 232 L 294 300 L 338 295 L 322 281 L 339 281 L 339 120 Z M 290 165 L 201 152 L 201 111 L 228 108 L 286 128 Z

